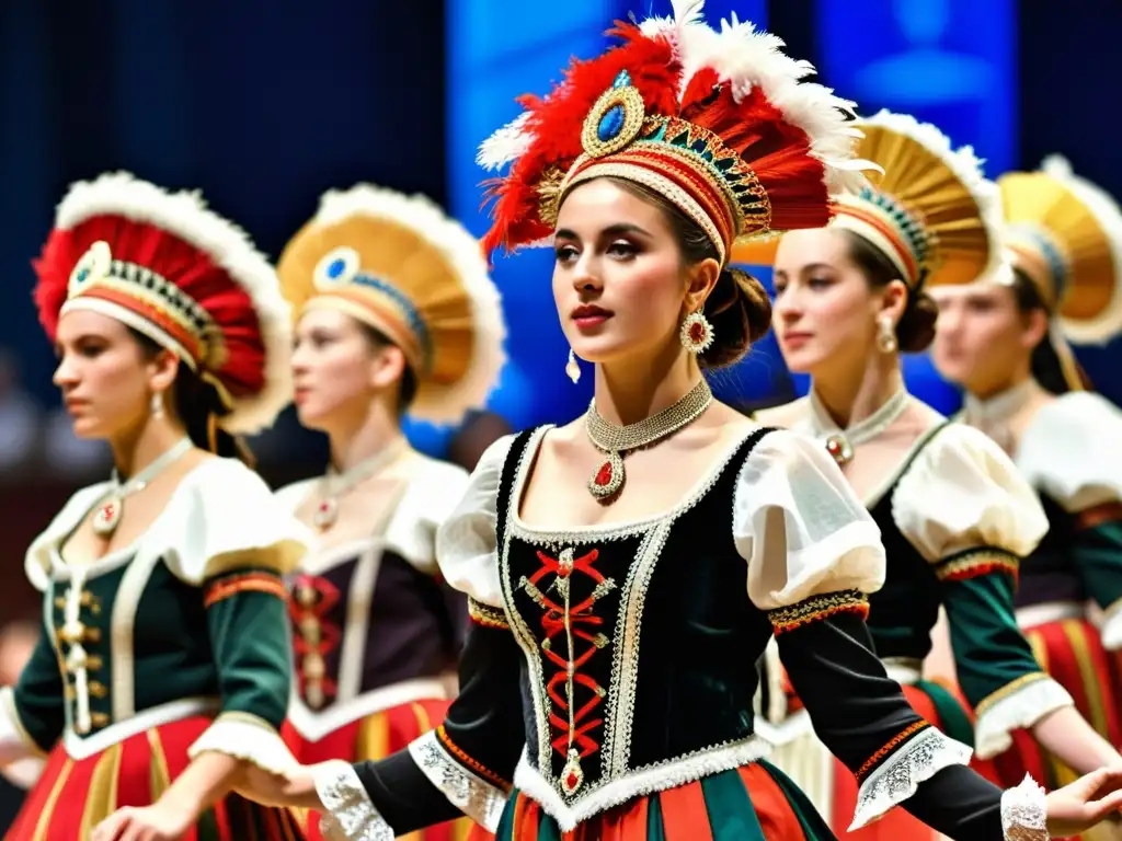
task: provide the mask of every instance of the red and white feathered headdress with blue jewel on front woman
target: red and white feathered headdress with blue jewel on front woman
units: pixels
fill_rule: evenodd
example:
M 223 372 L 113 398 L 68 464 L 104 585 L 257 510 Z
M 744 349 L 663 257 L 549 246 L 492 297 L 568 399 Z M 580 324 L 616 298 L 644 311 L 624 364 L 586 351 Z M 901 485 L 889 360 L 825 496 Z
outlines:
M 809 63 L 735 17 L 710 29 L 702 0 L 672 6 L 673 19 L 618 22 L 619 46 L 574 61 L 544 99 L 523 98 L 524 113 L 482 145 L 482 166 L 512 165 L 489 191 L 488 252 L 548 240 L 565 192 L 598 176 L 672 201 L 723 260 L 737 240 L 826 224 L 830 192 L 864 182 L 853 103 L 802 82 Z

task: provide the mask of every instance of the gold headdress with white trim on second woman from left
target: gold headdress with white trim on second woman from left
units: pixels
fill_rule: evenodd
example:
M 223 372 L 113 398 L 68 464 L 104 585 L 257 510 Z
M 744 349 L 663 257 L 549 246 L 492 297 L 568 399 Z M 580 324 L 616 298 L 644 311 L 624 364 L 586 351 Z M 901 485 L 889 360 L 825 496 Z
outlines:
M 424 196 L 368 184 L 325 193 L 277 270 L 297 316 L 342 309 L 402 350 L 417 378 L 411 415 L 454 423 L 495 387 L 498 289 L 478 240 Z

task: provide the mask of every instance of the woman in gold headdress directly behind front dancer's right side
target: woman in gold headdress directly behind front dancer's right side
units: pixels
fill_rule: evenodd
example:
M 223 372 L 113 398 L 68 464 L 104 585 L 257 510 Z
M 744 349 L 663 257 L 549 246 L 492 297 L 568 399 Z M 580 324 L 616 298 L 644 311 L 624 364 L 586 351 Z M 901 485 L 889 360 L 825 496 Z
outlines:
M 880 526 L 888 577 L 870 599 L 868 627 L 925 718 L 973 742 L 981 759 L 1032 728 L 1084 773 L 1122 761 L 1041 672 L 1013 620 L 1018 563 L 1047 528 L 1034 495 L 993 442 L 909 396 L 900 371 L 899 350 L 922 350 L 932 338 L 925 289 L 968 281 L 999 252 L 995 187 L 934 126 L 882 112 L 861 128 L 857 154 L 884 177 L 843 198 L 828 228 L 791 233 L 775 253 L 776 336 L 788 368 L 811 375 L 811 394 L 757 419 L 821 442 Z M 973 733 L 962 704 L 920 680 L 940 606 L 963 693 L 977 711 Z M 819 756 L 836 766 L 825 747 Z M 988 770 L 1011 785 L 1024 769 L 1006 761 Z M 833 776 L 829 813 L 842 833 L 857 791 L 844 767 Z M 896 815 L 900 825 L 890 820 L 863 834 L 921 837 Z

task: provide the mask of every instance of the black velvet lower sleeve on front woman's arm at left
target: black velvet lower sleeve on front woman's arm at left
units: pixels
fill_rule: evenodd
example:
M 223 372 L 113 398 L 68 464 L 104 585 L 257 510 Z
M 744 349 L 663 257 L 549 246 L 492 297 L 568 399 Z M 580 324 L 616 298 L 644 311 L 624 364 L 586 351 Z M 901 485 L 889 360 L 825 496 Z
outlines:
M 442 761 L 505 792 L 526 737 L 518 690 L 522 654 L 500 617 L 491 609 L 480 619 L 473 606 L 460 657 L 460 694 L 435 739 Z M 397 835 L 461 816 L 408 750 L 359 763 L 355 770 Z

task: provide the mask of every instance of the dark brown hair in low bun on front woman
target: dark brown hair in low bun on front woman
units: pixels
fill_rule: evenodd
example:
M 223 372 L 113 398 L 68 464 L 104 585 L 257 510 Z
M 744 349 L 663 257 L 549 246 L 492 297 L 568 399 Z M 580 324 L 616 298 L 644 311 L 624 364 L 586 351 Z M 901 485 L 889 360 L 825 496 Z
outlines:
M 720 261 L 717 247 L 701 225 L 672 202 L 642 184 L 613 176 L 605 177 L 662 211 L 686 265 L 691 266 L 710 258 Z M 712 344 L 698 357 L 701 367 L 707 369 L 738 362 L 752 343 L 762 339 L 771 329 L 771 299 L 767 290 L 745 271 L 723 268 L 702 312 L 712 325 L 714 336 Z

